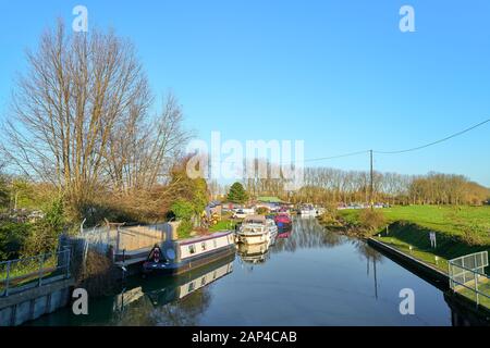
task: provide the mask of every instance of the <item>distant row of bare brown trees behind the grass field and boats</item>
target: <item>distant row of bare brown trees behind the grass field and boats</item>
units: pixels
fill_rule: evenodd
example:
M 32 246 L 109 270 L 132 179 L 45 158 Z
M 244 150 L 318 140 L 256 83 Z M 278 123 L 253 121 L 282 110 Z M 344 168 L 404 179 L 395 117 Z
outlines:
M 291 202 L 360 203 L 369 201 L 370 173 L 306 167 L 304 185 L 295 191 L 285 190 L 281 178 L 247 178 L 243 184 L 250 197 L 278 196 Z M 490 198 L 489 188 L 455 174 L 373 172 L 372 186 L 372 199 L 391 204 L 481 204 Z

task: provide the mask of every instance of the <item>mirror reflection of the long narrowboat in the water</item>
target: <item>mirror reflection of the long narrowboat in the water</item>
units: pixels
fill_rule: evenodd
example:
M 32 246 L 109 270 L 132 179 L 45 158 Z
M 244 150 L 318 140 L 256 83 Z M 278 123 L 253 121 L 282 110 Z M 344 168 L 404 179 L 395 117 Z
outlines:
M 230 253 L 205 266 L 172 277 L 152 277 L 144 282 L 142 286 L 126 289 L 118 295 L 114 300 L 114 309 L 121 311 L 130 303 L 138 301 L 145 295 L 154 306 L 164 306 L 180 300 L 192 293 L 226 276 L 233 272 L 234 253 Z

